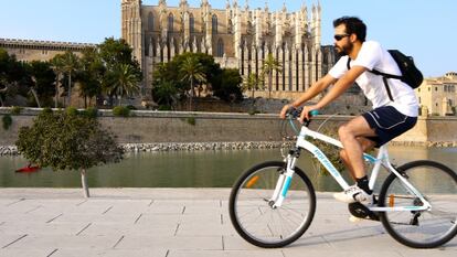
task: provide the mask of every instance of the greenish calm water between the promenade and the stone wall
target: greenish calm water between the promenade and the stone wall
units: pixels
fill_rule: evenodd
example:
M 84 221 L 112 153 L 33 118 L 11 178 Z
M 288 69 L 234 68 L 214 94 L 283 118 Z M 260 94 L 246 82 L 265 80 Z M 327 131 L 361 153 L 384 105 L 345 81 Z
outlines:
M 393 163 L 429 159 L 440 161 L 455 171 L 456 153 L 457 148 L 390 147 Z M 279 150 L 129 153 L 120 163 L 88 170 L 88 184 L 91 188 L 231 188 L 241 172 L 267 160 L 281 160 Z M 77 171 L 42 169 L 34 173 L 14 172 L 26 163 L 22 157 L 0 157 L 0 186 L 81 186 Z M 339 190 L 332 178 L 315 172 L 308 154 L 302 154 L 298 167 L 311 178 L 317 190 Z

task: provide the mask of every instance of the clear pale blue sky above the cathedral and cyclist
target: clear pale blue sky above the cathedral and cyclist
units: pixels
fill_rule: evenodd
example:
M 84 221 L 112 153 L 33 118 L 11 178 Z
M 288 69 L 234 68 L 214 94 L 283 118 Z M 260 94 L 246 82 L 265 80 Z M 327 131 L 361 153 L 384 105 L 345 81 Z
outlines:
M 121 0 L 0 0 L 0 39 L 102 43 L 120 38 Z M 200 7 L 201 0 L 188 0 Z M 225 9 L 226 0 L 209 0 L 212 8 Z M 233 2 L 233 0 L 230 0 Z M 249 8 L 295 12 L 302 4 L 311 9 L 318 0 L 249 0 Z M 144 0 L 157 6 L 158 0 Z M 179 0 L 167 0 L 178 6 Z M 245 7 L 245 0 L 238 0 Z M 322 45 L 333 44 L 332 21 L 355 15 L 368 26 L 368 40 L 385 49 L 412 55 L 424 76 L 457 72 L 456 0 L 320 0 Z M 310 12 L 309 12 L 310 13 Z

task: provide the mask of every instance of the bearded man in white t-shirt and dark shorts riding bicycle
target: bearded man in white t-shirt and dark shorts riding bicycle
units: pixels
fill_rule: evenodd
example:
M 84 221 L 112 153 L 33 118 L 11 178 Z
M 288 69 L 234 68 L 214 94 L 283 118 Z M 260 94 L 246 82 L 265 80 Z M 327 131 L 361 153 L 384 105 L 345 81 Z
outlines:
M 384 78 L 371 73 L 402 75 L 390 55 L 378 42 L 365 41 L 366 25 L 359 18 L 342 17 L 333 21 L 334 47 L 342 57 L 330 72 L 317 81 L 291 104 L 285 105 L 280 117 L 290 108 L 297 108 L 333 85 L 316 105 L 305 106 L 300 121 L 309 118 L 309 111 L 321 109 L 342 95 L 354 82 L 373 105 L 373 110 L 362 114 L 338 129 L 343 150 L 340 157 L 357 184 L 333 196 L 346 203 L 371 204 L 373 192 L 364 169 L 363 152 L 391 141 L 414 127 L 417 121 L 418 103 L 414 89 L 400 79 Z M 387 94 L 386 85 L 390 93 Z

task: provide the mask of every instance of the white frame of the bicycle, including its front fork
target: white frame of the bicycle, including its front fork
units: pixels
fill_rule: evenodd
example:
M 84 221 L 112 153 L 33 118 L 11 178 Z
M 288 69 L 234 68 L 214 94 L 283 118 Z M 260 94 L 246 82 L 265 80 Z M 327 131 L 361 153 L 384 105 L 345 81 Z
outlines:
M 291 122 L 291 121 L 290 121 Z M 327 156 L 315 144 L 312 144 L 310 141 L 307 140 L 307 137 L 310 137 L 312 139 L 318 139 L 321 141 L 325 141 L 327 143 L 330 143 L 338 148 L 343 148 L 342 143 L 331 137 L 328 137 L 323 133 L 313 131 L 309 129 L 307 126 L 302 126 L 301 130 L 297 138 L 296 149 L 298 152 L 294 154 L 288 154 L 286 158 L 287 163 L 287 170 L 284 174 L 279 176 L 279 180 L 276 184 L 275 191 L 273 193 L 273 197 L 270 199 L 270 202 L 274 203 L 273 207 L 279 207 L 283 204 L 283 201 L 285 200 L 287 195 L 287 191 L 290 186 L 290 181 L 294 175 L 294 169 L 296 161 L 299 156 L 300 149 L 305 149 L 309 151 L 315 158 L 319 160 L 319 162 L 326 168 L 326 170 L 331 174 L 331 176 L 338 182 L 338 184 L 343 189 L 347 190 L 349 188 L 349 184 L 346 182 L 346 180 L 341 176 L 340 172 L 334 168 L 334 165 L 331 163 L 331 161 L 327 158 Z M 381 165 L 384 167 L 387 171 L 394 173 L 403 183 L 403 186 L 412 194 L 416 195 L 423 203 L 422 206 L 402 206 L 402 207 L 378 207 L 378 206 L 371 206 L 369 207 L 370 211 L 373 212 L 397 212 L 397 211 L 425 211 L 425 210 L 432 210 L 431 204 L 428 201 L 424 199 L 424 196 L 402 175 L 391 164 L 389 160 L 389 152 L 386 146 L 382 146 L 378 152 L 376 158 L 363 153 L 363 158 L 373 163 L 374 167 L 372 169 L 371 175 L 370 175 L 370 182 L 369 186 L 371 190 L 373 190 L 374 184 L 376 182 L 379 172 L 381 170 Z

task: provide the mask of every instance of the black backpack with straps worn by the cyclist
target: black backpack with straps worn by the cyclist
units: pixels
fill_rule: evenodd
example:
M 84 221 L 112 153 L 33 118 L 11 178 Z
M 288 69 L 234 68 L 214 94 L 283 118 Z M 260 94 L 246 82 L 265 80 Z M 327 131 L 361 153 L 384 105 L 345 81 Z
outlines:
M 373 74 L 383 76 L 383 81 L 384 81 L 385 89 L 387 90 L 389 98 L 393 101 L 391 89 L 389 88 L 387 78 L 400 79 L 414 89 L 421 86 L 422 82 L 424 81 L 424 76 L 422 75 L 421 71 L 416 67 L 416 65 L 414 64 L 414 60 L 412 56 L 406 56 L 400 50 L 389 50 L 387 52 L 391 54 L 396 65 L 398 65 L 398 68 L 402 72 L 402 76 L 382 73 L 376 69 L 370 71 L 370 72 Z M 348 58 L 348 69 L 350 68 L 349 63 L 350 63 L 350 58 Z

